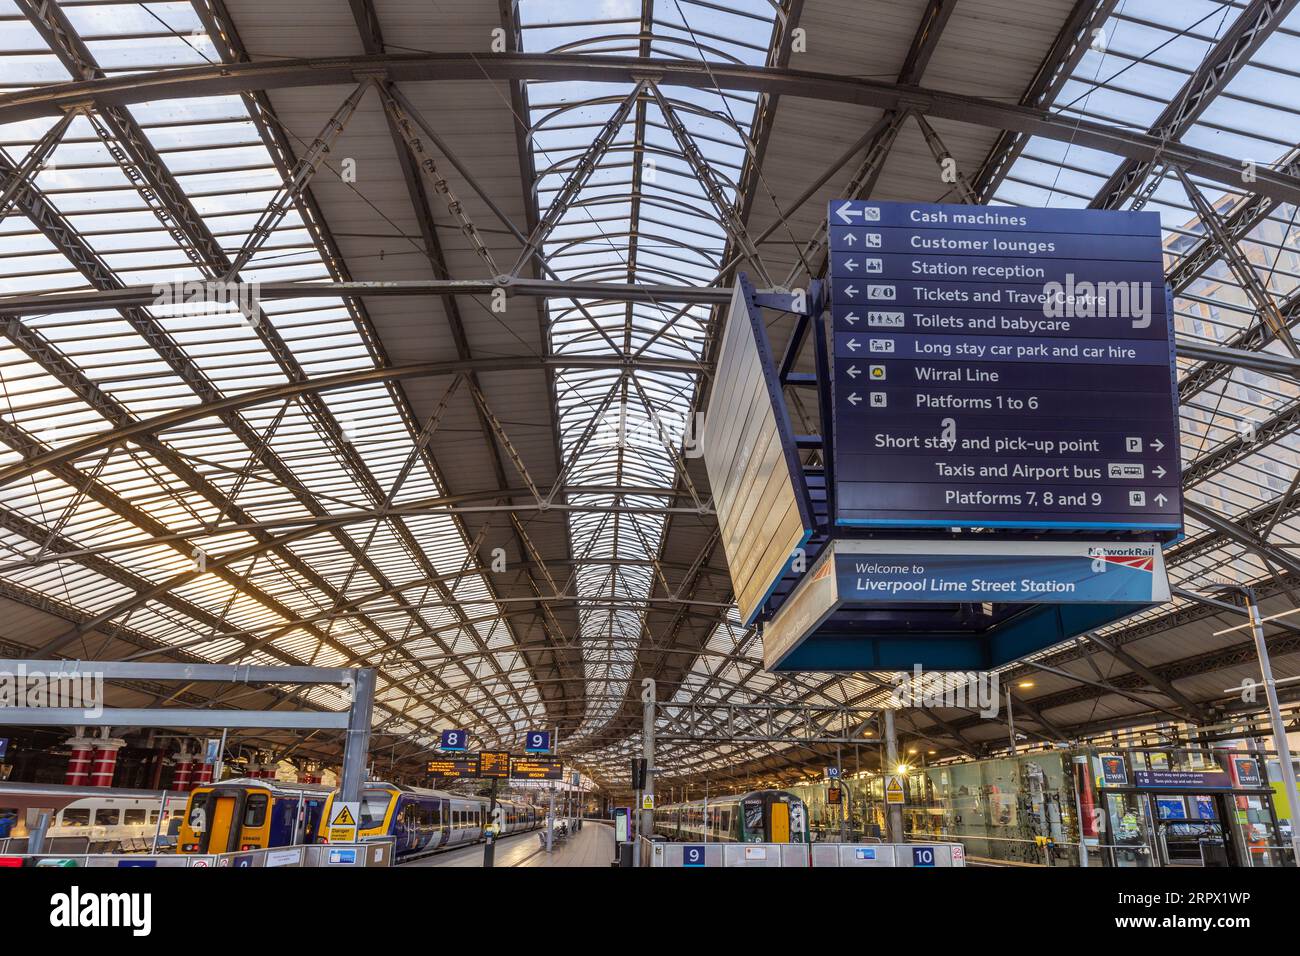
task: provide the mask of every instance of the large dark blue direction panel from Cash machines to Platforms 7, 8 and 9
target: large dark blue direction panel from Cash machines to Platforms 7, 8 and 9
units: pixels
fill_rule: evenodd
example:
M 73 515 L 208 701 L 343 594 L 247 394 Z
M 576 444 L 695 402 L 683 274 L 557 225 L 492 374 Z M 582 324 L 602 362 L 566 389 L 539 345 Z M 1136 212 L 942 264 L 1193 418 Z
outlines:
M 1182 527 L 1157 213 L 828 216 L 837 524 Z

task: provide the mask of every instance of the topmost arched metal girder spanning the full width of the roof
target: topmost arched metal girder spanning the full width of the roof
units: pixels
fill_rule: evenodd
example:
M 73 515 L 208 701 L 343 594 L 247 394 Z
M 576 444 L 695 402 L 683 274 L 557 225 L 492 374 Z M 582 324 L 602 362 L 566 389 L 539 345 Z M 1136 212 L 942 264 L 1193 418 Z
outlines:
M 771 66 L 578 53 L 404 53 L 222 62 L 142 72 L 90 82 L 56 83 L 0 96 L 0 124 L 57 116 L 61 109 L 87 98 L 126 105 L 251 90 L 338 86 L 355 82 L 358 73 L 374 72 L 384 72 L 395 82 L 534 79 L 627 85 L 651 77 L 660 86 L 776 92 L 881 109 L 911 109 L 941 120 L 1074 142 L 1143 163 L 1160 157 L 1206 179 L 1240 187 L 1240 161 L 1221 153 L 979 96 Z M 1300 202 L 1300 181 L 1273 169 L 1261 168 L 1254 187 L 1256 193 L 1280 202 Z

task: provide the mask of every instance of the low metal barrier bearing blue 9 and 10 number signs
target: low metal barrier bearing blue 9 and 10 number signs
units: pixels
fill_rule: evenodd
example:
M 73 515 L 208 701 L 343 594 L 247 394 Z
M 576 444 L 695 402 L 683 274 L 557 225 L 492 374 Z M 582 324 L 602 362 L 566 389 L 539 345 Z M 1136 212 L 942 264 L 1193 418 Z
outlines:
M 642 840 L 649 866 L 965 866 L 959 843 L 658 843 Z

